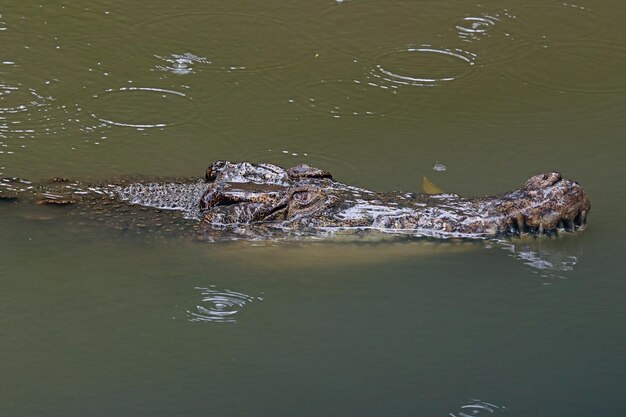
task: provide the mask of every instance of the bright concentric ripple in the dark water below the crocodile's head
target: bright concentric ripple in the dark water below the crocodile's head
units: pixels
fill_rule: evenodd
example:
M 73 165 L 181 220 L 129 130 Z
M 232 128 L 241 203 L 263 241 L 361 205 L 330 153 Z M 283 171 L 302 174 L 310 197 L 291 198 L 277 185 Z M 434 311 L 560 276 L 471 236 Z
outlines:
M 246 304 L 263 300 L 260 297 L 252 297 L 230 290 L 220 291 L 200 287 L 196 287 L 196 289 L 202 293 L 202 300 L 195 310 L 187 311 L 189 321 L 234 323 L 237 321 L 236 316 Z

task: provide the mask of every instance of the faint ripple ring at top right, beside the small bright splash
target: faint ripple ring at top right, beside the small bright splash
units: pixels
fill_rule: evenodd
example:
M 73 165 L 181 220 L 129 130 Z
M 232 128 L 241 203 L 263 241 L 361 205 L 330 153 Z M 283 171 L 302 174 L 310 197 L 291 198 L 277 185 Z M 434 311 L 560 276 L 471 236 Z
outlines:
M 516 39 L 580 39 L 600 28 L 588 9 L 568 3 L 513 6 L 505 13 L 511 18 L 503 20 L 497 30 Z

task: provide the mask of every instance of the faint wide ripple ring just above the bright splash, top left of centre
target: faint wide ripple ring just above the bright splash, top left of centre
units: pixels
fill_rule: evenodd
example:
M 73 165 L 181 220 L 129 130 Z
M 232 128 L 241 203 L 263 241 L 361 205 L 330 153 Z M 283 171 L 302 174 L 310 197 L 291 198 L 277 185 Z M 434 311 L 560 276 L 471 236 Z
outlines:
M 203 45 L 201 55 L 207 57 L 207 69 L 213 71 L 276 69 L 299 64 L 311 56 L 297 30 L 261 14 L 170 15 L 147 22 L 141 33 L 162 39 L 162 45 L 170 50 L 186 48 L 188 39 L 194 39 L 196 45 Z

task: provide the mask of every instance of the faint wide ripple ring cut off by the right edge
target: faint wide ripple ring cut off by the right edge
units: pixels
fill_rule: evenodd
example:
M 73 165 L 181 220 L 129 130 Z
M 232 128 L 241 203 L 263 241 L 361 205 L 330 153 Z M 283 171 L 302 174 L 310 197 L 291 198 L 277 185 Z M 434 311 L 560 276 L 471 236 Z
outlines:
M 626 91 L 626 47 L 609 42 L 576 41 L 541 48 L 528 64 L 508 66 L 515 78 L 559 92 L 622 94 Z

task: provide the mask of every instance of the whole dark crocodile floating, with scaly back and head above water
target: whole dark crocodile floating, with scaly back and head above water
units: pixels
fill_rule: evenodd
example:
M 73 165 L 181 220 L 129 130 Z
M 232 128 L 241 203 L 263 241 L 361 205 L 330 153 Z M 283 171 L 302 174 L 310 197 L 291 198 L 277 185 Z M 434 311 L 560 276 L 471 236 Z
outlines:
M 0 200 L 74 206 L 86 212 L 114 207 L 132 215 L 177 212 L 193 230 L 214 238 L 296 238 L 378 231 L 432 238 L 501 238 L 574 233 L 591 209 L 582 187 L 558 172 L 529 178 L 522 187 L 488 197 L 414 192 L 381 193 L 343 184 L 306 164 L 216 161 L 204 178 L 121 179 L 86 184 L 55 178 L 43 184 L 0 181 Z M 152 223 L 157 223 L 152 221 Z M 216 237 L 217 236 L 217 237 Z

